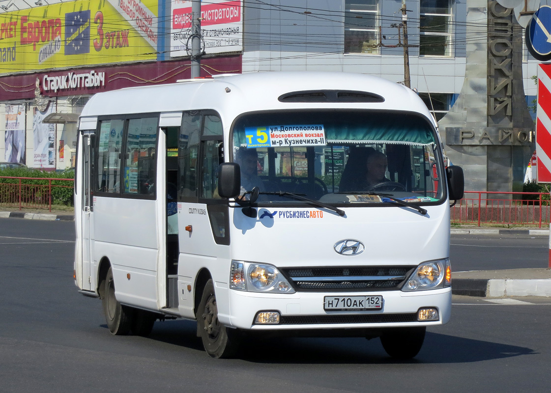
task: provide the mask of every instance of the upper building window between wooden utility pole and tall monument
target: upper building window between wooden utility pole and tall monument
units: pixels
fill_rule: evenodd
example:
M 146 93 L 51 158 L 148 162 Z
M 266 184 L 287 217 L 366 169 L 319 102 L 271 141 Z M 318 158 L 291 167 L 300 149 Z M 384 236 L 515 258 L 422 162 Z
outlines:
M 451 56 L 451 0 L 420 0 L 421 56 Z

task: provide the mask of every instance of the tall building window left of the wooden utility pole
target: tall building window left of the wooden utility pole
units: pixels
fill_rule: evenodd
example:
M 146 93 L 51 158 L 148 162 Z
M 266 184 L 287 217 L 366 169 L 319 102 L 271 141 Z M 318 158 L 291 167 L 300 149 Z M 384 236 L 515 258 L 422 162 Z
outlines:
M 379 53 L 379 0 L 345 0 L 344 53 Z

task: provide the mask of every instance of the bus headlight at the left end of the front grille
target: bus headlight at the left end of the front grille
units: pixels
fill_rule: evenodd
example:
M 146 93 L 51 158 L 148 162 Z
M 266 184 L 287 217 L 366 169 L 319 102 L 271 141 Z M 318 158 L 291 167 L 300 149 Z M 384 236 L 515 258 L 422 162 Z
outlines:
M 244 261 L 231 261 L 230 288 L 249 292 L 295 292 L 276 266 Z

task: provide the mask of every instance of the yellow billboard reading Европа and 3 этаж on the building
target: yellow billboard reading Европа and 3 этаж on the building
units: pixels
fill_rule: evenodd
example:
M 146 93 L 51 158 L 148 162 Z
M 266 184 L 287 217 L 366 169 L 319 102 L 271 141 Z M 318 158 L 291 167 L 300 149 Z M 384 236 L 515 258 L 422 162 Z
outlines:
M 0 14 L 0 74 L 156 58 L 157 0 L 86 0 Z

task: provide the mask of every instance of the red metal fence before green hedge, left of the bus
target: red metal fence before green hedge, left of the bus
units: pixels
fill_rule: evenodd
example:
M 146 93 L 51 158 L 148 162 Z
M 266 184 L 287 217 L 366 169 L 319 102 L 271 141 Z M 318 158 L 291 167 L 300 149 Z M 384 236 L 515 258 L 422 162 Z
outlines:
M 73 200 L 73 184 L 74 179 L 0 176 L 0 205 L 52 211 L 56 199 Z

